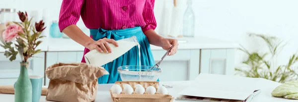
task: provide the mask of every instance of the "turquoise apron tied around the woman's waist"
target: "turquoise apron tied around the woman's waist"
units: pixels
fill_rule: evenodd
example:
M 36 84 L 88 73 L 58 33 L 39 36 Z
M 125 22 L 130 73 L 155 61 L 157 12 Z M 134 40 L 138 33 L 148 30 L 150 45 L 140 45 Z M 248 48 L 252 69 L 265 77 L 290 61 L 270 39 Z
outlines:
M 101 28 L 90 29 L 90 35 L 92 36 L 92 39 L 95 41 L 102 38 L 114 39 L 117 41 L 136 36 L 140 44 L 141 64 L 146 66 L 153 66 L 155 64 L 150 49 L 149 41 L 143 33 L 141 27 L 127 28 L 121 30 L 104 30 Z M 130 51 L 123 54 L 122 56 L 115 59 L 114 61 L 103 65 L 102 67 L 104 67 L 110 74 L 98 78 L 98 84 L 107 84 L 115 83 L 116 81 L 122 81 L 117 71 L 117 68 L 123 65 L 139 65 L 139 60 L 139 48 L 136 46 L 132 48 Z M 157 81 L 159 81 L 159 79 Z

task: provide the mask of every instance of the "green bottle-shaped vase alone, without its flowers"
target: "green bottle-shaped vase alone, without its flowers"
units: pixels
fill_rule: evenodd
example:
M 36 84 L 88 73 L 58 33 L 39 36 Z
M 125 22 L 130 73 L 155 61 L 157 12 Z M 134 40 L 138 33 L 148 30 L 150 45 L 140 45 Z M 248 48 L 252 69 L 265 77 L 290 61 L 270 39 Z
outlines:
M 14 85 L 14 102 L 32 102 L 32 85 L 28 76 L 28 62 L 20 62 L 20 75 Z

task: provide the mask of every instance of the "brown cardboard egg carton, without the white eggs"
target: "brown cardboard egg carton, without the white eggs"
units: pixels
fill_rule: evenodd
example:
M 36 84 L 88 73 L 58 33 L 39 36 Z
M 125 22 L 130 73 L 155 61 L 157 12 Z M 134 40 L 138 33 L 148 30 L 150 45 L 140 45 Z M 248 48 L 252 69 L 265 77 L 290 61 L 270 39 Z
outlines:
M 149 86 L 153 86 L 156 91 L 159 86 L 158 82 L 143 82 L 143 81 L 117 81 L 115 84 L 118 84 L 121 86 L 121 88 L 124 88 L 124 84 L 129 84 L 132 86 L 132 88 L 136 89 L 136 85 L 140 84 L 142 85 L 145 90 Z M 121 94 L 112 94 L 112 91 L 110 90 L 111 98 L 114 102 L 173 102 L 174 98 L 171 95 L 161 95 L 158 92 L 156 92 L 154 95 L 150 95 L 147 92 L 145 92 L 143 95 L 137 94 L 136 92 L 133 92 L 133 94 L 125 94 L 124 92 L 121 92 Z

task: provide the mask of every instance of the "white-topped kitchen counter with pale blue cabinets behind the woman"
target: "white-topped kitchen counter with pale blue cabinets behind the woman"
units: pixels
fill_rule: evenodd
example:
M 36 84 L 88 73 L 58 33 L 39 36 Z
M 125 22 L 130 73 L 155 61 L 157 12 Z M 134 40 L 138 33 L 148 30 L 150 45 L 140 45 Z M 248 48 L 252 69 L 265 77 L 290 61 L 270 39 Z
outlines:
M 200 72 L 234 75 L 234 56 L 238 47 L 237 43 L 212 39 L 208 37 L 176 38 L 179 43 L 178 51 L 173 56 L 167 56 L 160 64 L 164 74 L 160 78 L 164 81 L 193 80 Z M 47 67 L 58 63 L 81 62 L 84 47 L 72 39 L 42 39 L 38 46 L 43 52 L 36 54 L 30 63 L 29 75 L 44 75 Z M 160 61 L 166 51 L 161 47 L 151 45 L 154 61 Z M 4 50 L 0 47 L 0 85 L 12 85 L 18 78 L 19 55 L 16 60 L 10 62 L 4 56 Z M 216 66 L 216 67 L 215 67 Z M 175 71 L 173 67 L 177 67 Z M 10 69 L 14 69 L 11 71 Z M 4 76 L 3 76 L 4 75 Z M 179 75 L 179 76 L 177 76 Z M 9 77 L 8 77 L 9 76 Z M 45 78 L 44 85 L 48 85 L 49 79 Z

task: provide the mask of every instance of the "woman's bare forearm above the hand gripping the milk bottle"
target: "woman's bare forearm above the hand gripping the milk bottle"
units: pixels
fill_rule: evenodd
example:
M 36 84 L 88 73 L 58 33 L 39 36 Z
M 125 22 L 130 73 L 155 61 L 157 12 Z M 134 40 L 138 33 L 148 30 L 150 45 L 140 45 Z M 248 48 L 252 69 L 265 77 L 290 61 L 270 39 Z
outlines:
M 66 27 L 62 32 L 85 48 L 88 48 L 88 46 L 94 42 L 92 38 L 84 34 L 83 31 L 80 30 L 76 25 L 70 25 Z

